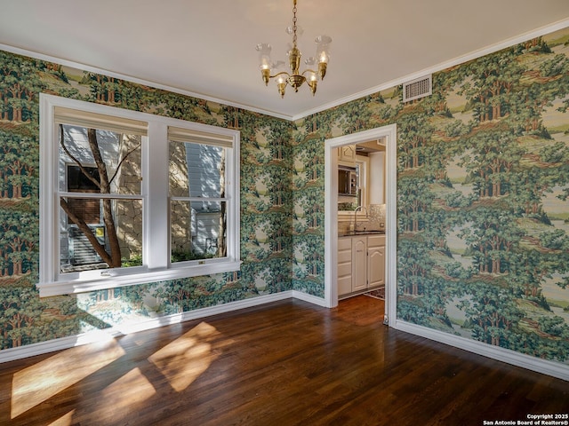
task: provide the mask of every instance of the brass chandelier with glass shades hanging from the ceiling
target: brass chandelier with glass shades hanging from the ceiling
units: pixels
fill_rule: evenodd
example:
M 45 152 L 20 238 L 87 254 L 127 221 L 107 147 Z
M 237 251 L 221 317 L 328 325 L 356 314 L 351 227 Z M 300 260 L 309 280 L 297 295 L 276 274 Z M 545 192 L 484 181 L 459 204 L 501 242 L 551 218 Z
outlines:
M 275 75 L 271 75 L 271 71 L 273 71 L 274 68 L 278 67 L 283 62 L 275 63 L 271 61 L 270 51 L 272 48 L 270 44 L 257 44 L 257 51 L 259 51 L 260 74 L 262 75 L 263 82 L 265 82 L 265 85 L 268 86 L 268 81 L 271 78 L 275 78 L 276 87 L 278 88 L 278 92 L 280 93 L 281 98 L 284 98 L 284 91 L 286 90 L 286 86 L 288 84 L 290 84 L 291 87 L 293 87 L 294 91 L 297 92 L 299 91 L 299 87 L 301 87 L 304 82 L 308 83 L 310 91 L 312 92 L 312 96 L 314 96 L 314 94 L 317 92 L 317 81 L 318 79 L 324 80 L 324 77 L 326 75 L 326 67 L 328 66 L 328 60 L 330 59 L 329 48 L 330 43 L 332 43 L 332 38 L 330 36 L 317 36 L 315 39 L 315 42 L 317 43 L 316 56 L 306 59 L 305 63 L 309 67 L 318 63 L 318 71 L 307 68 L 304 71 L 300 72 L 299 68 L 301 67 L 302 53 L 299 51 L 296 45 L 297 29 L 296 0 L 293 0 L 293 27 L 287 28 L 287 32 L 289 34 L 293 34 L 293 45 L 287 52 L 289 66 L 291 67 L 293 74 L 282 71 Z

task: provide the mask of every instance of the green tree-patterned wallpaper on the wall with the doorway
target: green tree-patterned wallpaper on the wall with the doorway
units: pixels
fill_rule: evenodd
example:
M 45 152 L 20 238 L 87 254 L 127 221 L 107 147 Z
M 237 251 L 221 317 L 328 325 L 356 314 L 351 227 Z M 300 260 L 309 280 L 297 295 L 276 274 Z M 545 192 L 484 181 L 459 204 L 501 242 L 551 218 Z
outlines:
M 569 364 L 568 106 L 565 28 L 299 120 L 293 287 L 322 294 L 323 141 L 397 123 L 397 317 Z

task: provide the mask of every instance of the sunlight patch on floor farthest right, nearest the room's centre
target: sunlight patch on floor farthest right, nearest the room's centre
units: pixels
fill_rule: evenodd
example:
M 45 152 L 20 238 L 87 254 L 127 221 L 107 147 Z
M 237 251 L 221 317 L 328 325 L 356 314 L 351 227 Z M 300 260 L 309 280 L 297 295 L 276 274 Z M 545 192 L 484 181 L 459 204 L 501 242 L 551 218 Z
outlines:
M 188 388 L 217 358 L 208 341 L 218 334 L 215 327 L 201 322 L 156 351 L 148 360 L 160 370 L 172 388 L 180 392 Z

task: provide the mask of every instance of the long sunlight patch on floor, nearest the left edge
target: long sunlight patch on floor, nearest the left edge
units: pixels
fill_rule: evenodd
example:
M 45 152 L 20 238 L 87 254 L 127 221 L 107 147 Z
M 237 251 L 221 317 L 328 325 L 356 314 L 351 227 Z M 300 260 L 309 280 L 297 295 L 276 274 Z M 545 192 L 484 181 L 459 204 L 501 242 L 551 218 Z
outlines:
M 12 419 L 124 355 L 115 340 L 76 346 L 13 376 Z

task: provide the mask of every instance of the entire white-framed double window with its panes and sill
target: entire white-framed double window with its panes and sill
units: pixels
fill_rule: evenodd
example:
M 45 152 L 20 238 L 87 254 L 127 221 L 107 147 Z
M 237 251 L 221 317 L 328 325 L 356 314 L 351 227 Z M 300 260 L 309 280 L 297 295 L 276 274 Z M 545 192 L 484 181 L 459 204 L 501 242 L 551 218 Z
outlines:
M 42 94 L 40 296 L 239 269 L 239 132 Z

